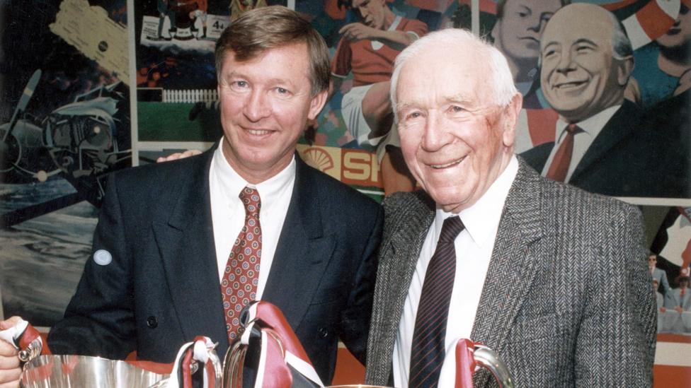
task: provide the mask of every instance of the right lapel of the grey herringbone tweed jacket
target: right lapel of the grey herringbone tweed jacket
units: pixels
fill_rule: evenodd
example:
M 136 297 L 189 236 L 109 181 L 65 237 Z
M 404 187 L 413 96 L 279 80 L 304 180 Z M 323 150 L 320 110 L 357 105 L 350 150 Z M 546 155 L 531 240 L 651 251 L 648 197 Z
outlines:
M 520 160 L 480 296 L 471 337 L 495 351 L 502 348 L 539 263 L 539 249 L 535 244 L 542 237 L 539 179 Z

